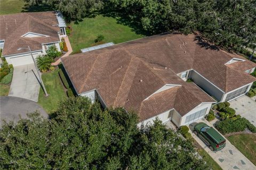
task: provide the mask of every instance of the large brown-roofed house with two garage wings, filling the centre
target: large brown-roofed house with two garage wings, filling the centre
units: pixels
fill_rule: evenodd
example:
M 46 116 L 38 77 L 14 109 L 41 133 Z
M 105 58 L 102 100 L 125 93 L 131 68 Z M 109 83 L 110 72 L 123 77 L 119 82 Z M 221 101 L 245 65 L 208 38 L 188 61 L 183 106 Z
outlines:
M 61 60 L 78 95 L 134 110 L 140 123 L 158 117 L 178 127 L 207 115 L 216 103 L 210 95 L 229 101 L 256 80 L 255 63 L 206 49 L 195 35 L 150 36 Z

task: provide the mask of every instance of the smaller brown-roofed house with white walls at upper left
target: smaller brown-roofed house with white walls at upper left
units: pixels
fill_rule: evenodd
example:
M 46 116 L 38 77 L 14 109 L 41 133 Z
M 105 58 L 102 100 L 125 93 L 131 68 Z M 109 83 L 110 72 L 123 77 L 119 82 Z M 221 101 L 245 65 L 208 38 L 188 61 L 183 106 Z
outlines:
M 47 48 L 55 45 L 60 51 L 60 38 L 66 36 L 66 24 L 57 12 L 31 12 L 0 16 L 0 48 L 2 57 L 13 66 L 33 63 L 34 58 L 45 54 Z

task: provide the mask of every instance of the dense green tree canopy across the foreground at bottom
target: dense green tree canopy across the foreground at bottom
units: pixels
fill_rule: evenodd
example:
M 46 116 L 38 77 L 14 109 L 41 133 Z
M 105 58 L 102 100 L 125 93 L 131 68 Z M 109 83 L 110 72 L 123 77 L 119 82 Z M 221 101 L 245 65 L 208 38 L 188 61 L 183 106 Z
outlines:
M 161 121 L 137 128 L 136 114 L 87 98 L 63 101 L 50 119 L 29 118 L 3 125 L 1 169 L 209 169 Z

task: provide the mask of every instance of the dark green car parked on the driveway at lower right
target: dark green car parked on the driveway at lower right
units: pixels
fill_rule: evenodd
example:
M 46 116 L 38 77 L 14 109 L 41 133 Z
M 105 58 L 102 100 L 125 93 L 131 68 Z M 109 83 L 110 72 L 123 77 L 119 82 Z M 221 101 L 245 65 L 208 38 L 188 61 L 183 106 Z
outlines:
M 226 140 L 214 128 L 205 123 L 197 123 L 194 133 L 199 136 L 212 151 L 219 151 L 226 146 Z

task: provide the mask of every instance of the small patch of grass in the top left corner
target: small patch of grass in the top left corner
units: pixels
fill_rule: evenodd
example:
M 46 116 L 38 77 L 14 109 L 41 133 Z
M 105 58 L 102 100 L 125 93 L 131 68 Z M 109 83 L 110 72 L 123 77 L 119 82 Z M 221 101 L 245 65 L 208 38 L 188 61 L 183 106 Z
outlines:
M 24 5 L 22 0 L 0 0 L 0 14 L 20 13 Z

